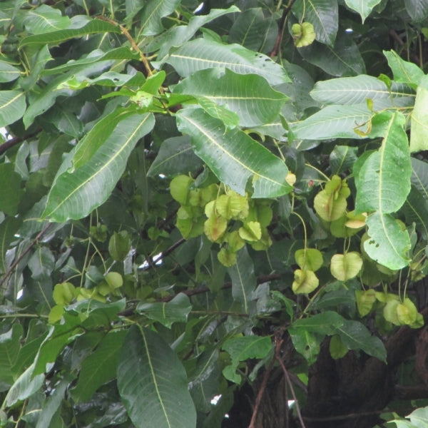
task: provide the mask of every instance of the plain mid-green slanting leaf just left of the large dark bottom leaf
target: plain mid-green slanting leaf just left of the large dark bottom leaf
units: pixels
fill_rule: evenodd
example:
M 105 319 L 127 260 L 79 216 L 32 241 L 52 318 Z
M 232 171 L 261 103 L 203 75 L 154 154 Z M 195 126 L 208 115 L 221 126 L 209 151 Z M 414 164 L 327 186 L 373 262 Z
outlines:
M 87 402 L 98 387 L 115 377 L 126 330 L 112 330 L 81 365 L 76 387 L 71 390 L 76 402 Z

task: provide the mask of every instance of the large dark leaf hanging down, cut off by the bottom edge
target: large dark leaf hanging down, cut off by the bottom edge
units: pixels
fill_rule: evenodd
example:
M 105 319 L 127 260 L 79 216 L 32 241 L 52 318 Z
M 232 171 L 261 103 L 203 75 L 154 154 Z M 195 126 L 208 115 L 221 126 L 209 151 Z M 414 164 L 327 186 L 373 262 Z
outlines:
M 155 332 L 133 326 L 119 360 L 118 389 L 138 428 L 195 428 L 183 365 Z

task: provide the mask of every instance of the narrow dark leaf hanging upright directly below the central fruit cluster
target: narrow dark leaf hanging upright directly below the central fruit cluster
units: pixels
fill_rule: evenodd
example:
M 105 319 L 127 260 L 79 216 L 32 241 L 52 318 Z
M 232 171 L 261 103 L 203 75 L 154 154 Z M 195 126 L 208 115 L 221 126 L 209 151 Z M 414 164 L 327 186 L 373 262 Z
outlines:
M 236 264 L 228 268 L 228 274 L 232 280 L 233 298 L 240 302 L 243 311 L 248 314 L 257 282 L 254 276 L 253 260 L 246 247 L 238 251 Z

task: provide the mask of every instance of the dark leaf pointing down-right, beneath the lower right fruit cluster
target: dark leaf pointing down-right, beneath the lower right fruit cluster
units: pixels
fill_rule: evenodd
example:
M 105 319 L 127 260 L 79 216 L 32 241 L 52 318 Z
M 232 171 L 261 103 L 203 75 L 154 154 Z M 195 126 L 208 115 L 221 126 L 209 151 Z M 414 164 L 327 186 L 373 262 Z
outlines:
M 343 325 L 336 327 L 337 334 L 349 350 L 362 350 L 383 362 L 387 362 L 387 350 L 379 339 L 372 336 L 361 322 L 343 320 Z

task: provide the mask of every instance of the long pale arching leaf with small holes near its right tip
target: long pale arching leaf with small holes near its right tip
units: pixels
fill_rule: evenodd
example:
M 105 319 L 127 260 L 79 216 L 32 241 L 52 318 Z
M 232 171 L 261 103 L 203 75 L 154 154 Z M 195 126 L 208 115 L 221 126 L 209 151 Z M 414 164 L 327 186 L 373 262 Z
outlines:
M 205 68 L 229 68 L 235 73 L 258 74 L 271 85 L 290 82 L 284 68 L 268 56 L 257 54 L 238 44 L 196 39 L 180 46 L 166 59 L 180 76 L 186 77 Z

